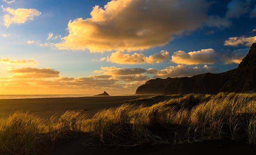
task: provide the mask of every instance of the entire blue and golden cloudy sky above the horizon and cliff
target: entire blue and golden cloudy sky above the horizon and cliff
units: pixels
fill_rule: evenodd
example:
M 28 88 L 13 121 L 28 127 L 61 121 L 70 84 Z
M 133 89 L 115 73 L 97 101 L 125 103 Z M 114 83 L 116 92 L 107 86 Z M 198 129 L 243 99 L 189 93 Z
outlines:
M 0 95 L 135 94 L 236 68 L 254 0 L 1 0 Z

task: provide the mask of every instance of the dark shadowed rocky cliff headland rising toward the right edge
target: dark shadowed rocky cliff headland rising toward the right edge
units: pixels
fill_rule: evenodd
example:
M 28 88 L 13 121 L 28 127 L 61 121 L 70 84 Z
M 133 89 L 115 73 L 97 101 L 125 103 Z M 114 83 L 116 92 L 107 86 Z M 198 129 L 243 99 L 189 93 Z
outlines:
M 256 43 L 238 68 L 219 74 L 205 73 L 192 77 L 151 79 L 136 90 L 136 94 L 179 94 L 247 92 L 256 90 Z

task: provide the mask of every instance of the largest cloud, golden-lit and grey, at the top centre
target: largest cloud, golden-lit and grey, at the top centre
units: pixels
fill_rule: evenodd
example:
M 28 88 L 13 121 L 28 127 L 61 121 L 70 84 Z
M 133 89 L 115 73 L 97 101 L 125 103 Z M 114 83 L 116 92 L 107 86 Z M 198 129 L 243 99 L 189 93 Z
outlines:
M 59 49 L 134 51 L 166 45 L 172 34 L 193 31 L 207 21 L 206 0 L 112 0 L 95 5 L 91 18 L 68 23 Z

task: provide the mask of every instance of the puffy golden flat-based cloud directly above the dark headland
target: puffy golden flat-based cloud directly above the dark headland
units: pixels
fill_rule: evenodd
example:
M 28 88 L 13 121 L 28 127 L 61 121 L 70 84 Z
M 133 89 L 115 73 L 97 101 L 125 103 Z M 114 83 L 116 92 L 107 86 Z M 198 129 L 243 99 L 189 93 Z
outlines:
M 202 49 L 200 51 L 193 51 L 186 53 L 184 51 L 174 52 L 171 56 L 171 62 L 176 64 L 213 64 L 215 62 L 214 57 L 216 56 L 214 49 Z

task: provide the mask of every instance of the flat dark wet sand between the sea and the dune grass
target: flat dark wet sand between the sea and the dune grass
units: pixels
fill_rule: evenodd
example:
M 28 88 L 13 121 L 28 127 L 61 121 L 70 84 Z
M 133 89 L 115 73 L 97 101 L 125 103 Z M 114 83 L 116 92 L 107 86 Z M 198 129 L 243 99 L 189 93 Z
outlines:
M 48 120 L 54 114 L 61 115 L 67 110 L 80 110 L 91 118 L 99 109 L 117 107 L 126 100 L 144 96 L 150 95 L 0 99 L 0 117 L 21 110 Z

